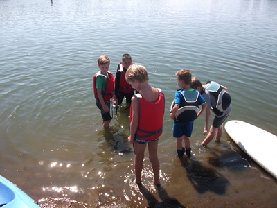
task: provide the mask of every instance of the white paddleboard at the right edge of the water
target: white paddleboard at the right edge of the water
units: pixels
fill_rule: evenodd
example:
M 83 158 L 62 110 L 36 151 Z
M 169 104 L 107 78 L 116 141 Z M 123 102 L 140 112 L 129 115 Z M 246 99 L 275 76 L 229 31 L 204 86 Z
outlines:
M 244 121 L 228 121 L 225 130 L 238 146 L 277 179 L 277 136 Z

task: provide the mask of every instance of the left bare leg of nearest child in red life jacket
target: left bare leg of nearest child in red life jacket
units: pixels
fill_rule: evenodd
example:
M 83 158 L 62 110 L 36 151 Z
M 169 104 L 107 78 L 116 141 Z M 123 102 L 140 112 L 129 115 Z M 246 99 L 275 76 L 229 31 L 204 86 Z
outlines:
M 136 183 L 141 182 L 141 171 L 143 170 L 144 150 L 146 144 L 139 144 L 134 142 L 134 149 L 136 155 L 134 156 L 134 169 L 136 173 Z

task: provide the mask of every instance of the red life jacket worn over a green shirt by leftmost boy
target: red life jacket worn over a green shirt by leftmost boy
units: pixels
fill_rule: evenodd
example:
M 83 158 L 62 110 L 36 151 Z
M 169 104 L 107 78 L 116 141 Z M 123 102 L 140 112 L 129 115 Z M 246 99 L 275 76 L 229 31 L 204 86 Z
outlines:
M 97 95 L 97 89 L 96 89 L 96 77 L 97 76 L 104 76 L 107 79 L 107 87 L 106 87 L 106 91 L 105 94 L 102 94 L 104 101 L 108 101 L 109 99 L 112 98 L 112 93 L 114 92 L 114 76 L 111 72 L 107 72 L 109 74 L 108 76 L 105 76 L 103 74 L 95 74 L 93 76 L 93 91 L 94 91 L 94 97 L 96 98 L 96 100 L 99 101 L 98 95 Z

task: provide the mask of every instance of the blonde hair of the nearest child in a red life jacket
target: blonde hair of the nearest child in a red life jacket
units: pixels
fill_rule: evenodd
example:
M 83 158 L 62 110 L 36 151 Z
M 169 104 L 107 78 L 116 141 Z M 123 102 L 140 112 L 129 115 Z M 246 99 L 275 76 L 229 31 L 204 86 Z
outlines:
M 127 83 L 134 83 L 134 80 L 138 80 L 139 83 L 142 83 L 145 80 L 149 80 L 147 70 L 145 69 L 145 67 L 143 67 L 143 65 L 139 64 L 132 64 L 131 66 L 129 66 L 126 71 L 125 78 Z

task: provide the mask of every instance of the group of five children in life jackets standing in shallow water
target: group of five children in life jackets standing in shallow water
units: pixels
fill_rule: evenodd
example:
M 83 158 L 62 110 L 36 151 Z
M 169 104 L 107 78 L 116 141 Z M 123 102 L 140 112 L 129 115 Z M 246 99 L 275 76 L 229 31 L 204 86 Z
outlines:
M 164 94 L 161 89 L 154 88 L 148 83 L 148 71 L 142 65 L 133 64 L 129 54 L 123 55 L 122 62 L 118 64 L 115 79 L 108 71 L 109 64 L 109 58 L 101 55 L 98 58 L 100 71 L 93 76 L 96 105 L 101 111 L 103 127 L 109 128 L 111 121 L 109 112 L 111 98 L 114 105 L 118 106 L 125 97 L 126 103 L 131 105 L 128 141 L 134 145 L 136 183 L 141 185 L 144 152 L 148 146 L 149 159 L 154 173 L 153 182 L 159 187 L 160 166 L 157 148 L 163 131 Z M 213 137 L 216 141 L 220 141 L 222 124 L 231 113 L 231 97 L 226 87 L 216 82 L 211 81 L 202 85 L 199 79 L 192 77 L 189 69 L 181 69 L 175 75 L 180 89 L 175 92 L 170 110 L 170 118 L 173 120 L 173 137 L 177 138 L 177 156 L 182 157 L 186 153 L 190 157 L 189 137 L 193 131 L 193 121 L 206 111 L 203 132 L 206 137 L 202 145 L 206 146 Z M 134 94 L 134 91 L 137 93 Z M 201 110 L 199 110 L 199 105 L 202 105 Z M 215 113 L 215 119 L 208 131 L 210 110 Z

